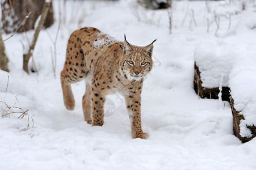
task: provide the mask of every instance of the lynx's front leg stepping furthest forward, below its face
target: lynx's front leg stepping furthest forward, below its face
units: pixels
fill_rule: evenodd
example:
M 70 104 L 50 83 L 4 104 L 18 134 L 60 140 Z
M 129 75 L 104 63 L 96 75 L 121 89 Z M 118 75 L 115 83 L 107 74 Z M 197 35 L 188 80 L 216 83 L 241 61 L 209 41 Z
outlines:
M 132 138 L 146 139 L 149 137 L 141 129 L 140 117 L 140 95 L 129 95 L 125 97 L 129 118 L 132 122 Z

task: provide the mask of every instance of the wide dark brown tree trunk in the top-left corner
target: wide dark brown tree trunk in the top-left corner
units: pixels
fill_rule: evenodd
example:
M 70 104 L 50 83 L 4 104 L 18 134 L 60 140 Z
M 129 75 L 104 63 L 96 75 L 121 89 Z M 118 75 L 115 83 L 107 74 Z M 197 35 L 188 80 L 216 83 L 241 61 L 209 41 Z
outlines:
M 23 24 L 23 27 L 18 29 L 18 32 L 27 31 L 35 28 L 37 18 L 43 11 L 45 0 L 5 0 L 1 3 L 2 7 L 2 23 L 3 30 L 6 33 L 12 33 L 18 28 L 18 25 L 31 11 L 31 16 Z M 53 7 L 48 11 L 47 19 L 45 20 L 44 27 L 50 27 L 54 22 Z

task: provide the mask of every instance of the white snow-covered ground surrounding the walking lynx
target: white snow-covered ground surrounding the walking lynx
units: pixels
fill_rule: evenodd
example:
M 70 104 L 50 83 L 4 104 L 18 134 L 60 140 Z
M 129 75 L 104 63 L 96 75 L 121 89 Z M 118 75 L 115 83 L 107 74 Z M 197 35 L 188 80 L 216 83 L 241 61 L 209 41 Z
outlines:
M 1 112 L 28 111 L 23 118 L 18 118 L 22 113 L 0 118 L 1 170 L 256 168 L 256 139 L 242 144 L 234 137 L 229 103 L 223 101 L 220 106 L 218 100 L 198 99 L 193 89 L 194 50 L 199 45 L 239 46 L 246 53 L 255 52 L 255 24 L 246 20 L 255 16 L 254 1 L 246 3 L 245 11 L 241 11 L 242 1 L 232 1 L 231 5 L 229 1 L 209 1 L 209 12 L 205 1 L 174 1 L 171 35 L 166 10 L 145 10 L 135 1 L 67 1 L 66 6 L 61 1 L 55 78 L 54 45 L 49 35 L 55 39 L 58 2 L 53 4 L 56 21 L 41 31 L 33 53 L 38 74 L 22 71 L 26 35 L 17 33 L 5 42 L 11 71 L 0 71 Z M 207 18 L 209 23 L 214 20 L 213 11 L 220 15 L 220 29 L 216 32 L 213 22 L 207 33 Z M 230 29 L 225 18 L 228 12 L 232 14 Z M 86 124 L 82 113 L 84 82 L 72 86 L 74 111 L 65 109 L 60 71 L 66 44 L 70 33 L 85 26 L 96 27 L 120 41 L 125 33 L 134 45 L 148 45 L 158 39 L 153 50 L 154 69 L 142 90 L 142 129 L 149 139 L 132 139 L 124 99 L 119 95 L 109 96 L 114 104 L 110 103 L 111 116 L 106 115 L 102 127 Z M 242 73 L 235 71 L 233 77 L 239 79 Z

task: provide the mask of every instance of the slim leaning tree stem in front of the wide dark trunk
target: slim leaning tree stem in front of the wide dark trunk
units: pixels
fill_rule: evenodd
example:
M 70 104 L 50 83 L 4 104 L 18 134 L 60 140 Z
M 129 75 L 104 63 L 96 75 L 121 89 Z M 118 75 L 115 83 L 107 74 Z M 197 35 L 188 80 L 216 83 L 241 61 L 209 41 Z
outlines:
M 39 24 L 37 25 L 36 31 L 35 31 L 34 36 L 33 36 L 33 42 L 30 45 L 30 49 L 28 50 L 28 53 L 23 54 L 23 70 L 26 71 L 27 73 L 29 73 L 28 72 L 28 61 L 29 61 L 30 57 L 32 56 L 33 49 L 35 49 L 37 38 L 38 38 L 39 33 L 40 33 L 40 31 L 43 27 L 45 18 L 47 17 L 47 12 L 48 12 L 48 10 L 51 6 L 51 3 L 52 3 L 52 1 L 44 3 L 41 18 L 40 18 Z

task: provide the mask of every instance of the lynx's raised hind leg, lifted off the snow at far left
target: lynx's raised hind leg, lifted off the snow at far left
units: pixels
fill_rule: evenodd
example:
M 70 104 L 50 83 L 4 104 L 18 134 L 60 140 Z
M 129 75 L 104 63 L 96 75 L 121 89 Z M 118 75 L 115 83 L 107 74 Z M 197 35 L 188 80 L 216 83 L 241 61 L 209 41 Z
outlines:
M 63 93 L 64 105 L 69 111 L 73 111 L 75 107 L 75 99 L 71 89 L 71 81 L 65 75 L 65 71 L 61 71 L 61 88 Z

